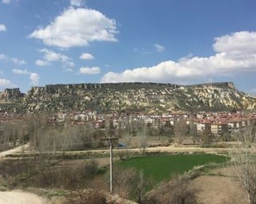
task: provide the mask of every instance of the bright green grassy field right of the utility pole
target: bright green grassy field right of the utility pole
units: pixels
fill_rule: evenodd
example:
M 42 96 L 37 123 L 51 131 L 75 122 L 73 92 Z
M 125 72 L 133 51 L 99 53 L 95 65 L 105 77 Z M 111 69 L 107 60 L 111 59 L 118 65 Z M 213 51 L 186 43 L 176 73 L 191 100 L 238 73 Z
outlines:
M 155 155 L 120 161 L 117 166 L 142 170 L 145 176 L 155 182 L 160 182 L 168 180 L 173 174 L 181 174 L 193 169 L 195 166 L 223 163 L 226 160 L 225 156 L 209 154 Z

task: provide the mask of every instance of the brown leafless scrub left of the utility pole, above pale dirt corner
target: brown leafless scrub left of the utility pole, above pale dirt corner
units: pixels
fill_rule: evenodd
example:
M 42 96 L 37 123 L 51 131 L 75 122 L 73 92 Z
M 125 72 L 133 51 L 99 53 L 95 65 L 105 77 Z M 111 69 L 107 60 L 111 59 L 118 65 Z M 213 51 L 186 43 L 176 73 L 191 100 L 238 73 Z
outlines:
M 92 187 L 97 175 L 105 170 L 94 161 L 76 167 L 56 165 L 45 157 L 4 160 L 0 163 L 1 185 L 8 188 L 81 189 Z M 104 182 L 104 181 L 103 181 Z M 96 184 L 97 185 L 97 184 Z M 101 185 L 102 187 L 104 185 Z

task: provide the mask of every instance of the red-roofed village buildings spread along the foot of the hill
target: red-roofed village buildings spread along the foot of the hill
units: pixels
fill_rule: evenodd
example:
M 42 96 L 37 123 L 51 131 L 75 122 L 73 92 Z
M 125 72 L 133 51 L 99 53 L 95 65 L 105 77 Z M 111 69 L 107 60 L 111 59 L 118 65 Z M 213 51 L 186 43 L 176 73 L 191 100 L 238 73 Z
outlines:
M 0 112 L 0 121 L 23 119 L 26 115 Z M 59 112 L 51 116 L 52 123 L 69 120 L 74 125 L 89 123 L 95 129 L 108 129 L 112 124 L 116 129 L 120 128 L 123 121 L 128 123 L 142 123 L 148 127 L 175 126 L 178 121 L 185 121 L 187 125 L 194 125 L 198 134 L 207 132 L 221 136 L 225 133 L 233 134 L 246 125 L 254 124 L 256 112 L 197 112 L 197 113 L 165 113 L 165 114 L 97 114 L 97 111 L 86 110 L 81 112 Z

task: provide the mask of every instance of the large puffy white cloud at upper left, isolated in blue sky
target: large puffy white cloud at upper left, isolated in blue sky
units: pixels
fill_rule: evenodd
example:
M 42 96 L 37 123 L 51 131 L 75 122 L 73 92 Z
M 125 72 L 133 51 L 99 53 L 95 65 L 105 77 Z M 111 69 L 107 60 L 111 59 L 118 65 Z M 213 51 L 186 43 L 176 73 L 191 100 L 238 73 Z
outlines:
M 93 41 L 117 41 L 116 33 L 114 19 L 96 10 L 70 7 L 29 37 L 40 39 L 46 45 L 69 48 L 86 46 Z

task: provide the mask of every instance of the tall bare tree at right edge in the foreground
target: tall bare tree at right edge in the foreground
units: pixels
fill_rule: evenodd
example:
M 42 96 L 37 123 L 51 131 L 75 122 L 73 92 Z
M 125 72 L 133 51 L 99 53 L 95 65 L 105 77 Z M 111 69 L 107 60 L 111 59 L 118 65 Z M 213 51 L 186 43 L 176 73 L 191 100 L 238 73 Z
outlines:
M 256 203 L 256 157 L 252 145 L 256 141 L 255 129 L 248 126 L 235 134 L 238 148 L 231 154 L 234 172 L 240 185 L 245 189 L 248 203 Z

